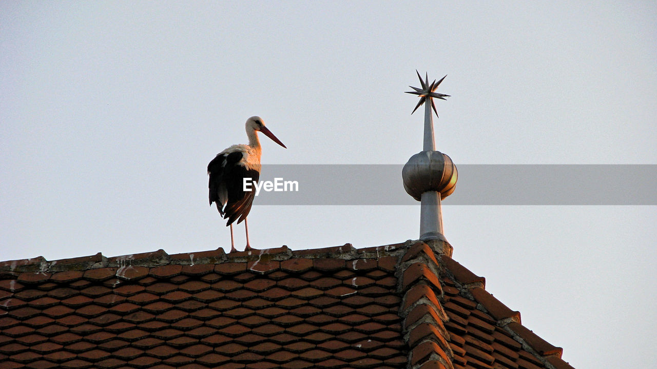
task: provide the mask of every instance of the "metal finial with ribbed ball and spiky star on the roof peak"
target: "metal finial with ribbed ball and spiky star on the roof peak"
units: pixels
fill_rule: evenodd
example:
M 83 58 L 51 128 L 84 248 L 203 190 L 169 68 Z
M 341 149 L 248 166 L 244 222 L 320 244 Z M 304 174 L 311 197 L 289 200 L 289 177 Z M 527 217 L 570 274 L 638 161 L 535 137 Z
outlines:
M 442 77 L 438 82 L 434 80 L 433 83 L 429 84 L 428 76 L 425 77 L 424 81 L 422 81 L 419 72 L 417 76 L 420 78 L 422 88 L 411 86 L 415 91 L 408 93 L 420 97 L 420 102 L 415 106 L 415 110 L 424 104 L 423 151 L 412 156 L 409 162 L 404 165 L 402 178 L 406 192 L 413 196 L 415 200 L 419 200 L 421 204 L 420 240 L 441 240 L 446 242 L 447 240 L 443 236 L 441 198 L 453 192 L 456 185 L 457 171 L 449 156 L 436 151 L 432 109 L 436 112 L 434 97 L 445 100 L 445 97 L 449 95 L 435 92 L 445 77 Z M 436 112 L 436 116 L 438 116 L 438 112 Z

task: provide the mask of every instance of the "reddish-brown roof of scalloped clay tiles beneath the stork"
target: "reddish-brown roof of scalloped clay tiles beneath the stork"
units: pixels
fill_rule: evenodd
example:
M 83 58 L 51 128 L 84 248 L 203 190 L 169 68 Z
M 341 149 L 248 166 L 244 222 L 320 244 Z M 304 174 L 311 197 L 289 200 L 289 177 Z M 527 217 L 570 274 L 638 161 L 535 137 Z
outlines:
M 449 245 L 0 263 L 0 368 L 571 368 Z

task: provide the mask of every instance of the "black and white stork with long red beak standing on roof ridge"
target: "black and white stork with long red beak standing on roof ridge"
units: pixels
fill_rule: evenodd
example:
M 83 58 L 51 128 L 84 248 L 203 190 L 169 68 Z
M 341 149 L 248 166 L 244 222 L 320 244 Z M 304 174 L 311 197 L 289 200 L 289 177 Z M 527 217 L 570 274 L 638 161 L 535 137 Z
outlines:
M 246 216 L 251 211 L 256 191 L 253 185 L 260 178 L 260 155 L 262 148 L 258 139 L 258 131 L 272 141 L 287 148 L 283 142 L 265 127 L 265 122 L 259 116 L 246 119 L 246 136 L 248 144 L 234 144 L 219 152 L 208 164 L 208 188 L 210 189 L 210 206 L 214 202 L 223 219 L 228 219 L 226 227 L 231 227 L 231 252 L 235 249 L 233 239 L 233 222 L 244 221 L 246 230 L 246 248 L 253 250 L 248 240 L 248 225 Z M 252 190 L 245 190 L 244 183 L 251 183 Z

